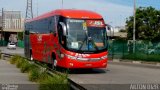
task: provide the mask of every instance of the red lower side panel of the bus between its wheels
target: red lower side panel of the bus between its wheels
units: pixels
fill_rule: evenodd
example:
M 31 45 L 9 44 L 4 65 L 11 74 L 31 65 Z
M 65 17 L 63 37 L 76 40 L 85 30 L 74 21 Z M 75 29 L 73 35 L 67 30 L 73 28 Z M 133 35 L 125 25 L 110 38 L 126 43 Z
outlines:
M 35 60 L 52 63 L 51 55 L 53 51 L 52 34 L 31 34 L 30 35 L 32 56 Z

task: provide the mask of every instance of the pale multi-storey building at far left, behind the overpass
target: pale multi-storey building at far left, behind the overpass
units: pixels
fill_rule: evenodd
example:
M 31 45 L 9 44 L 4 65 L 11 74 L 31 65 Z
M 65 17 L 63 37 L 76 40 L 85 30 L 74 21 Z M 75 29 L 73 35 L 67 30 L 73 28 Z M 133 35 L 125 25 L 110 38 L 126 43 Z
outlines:
M 2 18 L 0 26 L 2 27 Z M 24 19 L 20 11 L 3 11 L 3 33 L 1 30 L 0 36 L 3 36 L 6 42 L 9 41 L 9 38 L 17 38 L 17 33 L 23 32 L 23 30 Z

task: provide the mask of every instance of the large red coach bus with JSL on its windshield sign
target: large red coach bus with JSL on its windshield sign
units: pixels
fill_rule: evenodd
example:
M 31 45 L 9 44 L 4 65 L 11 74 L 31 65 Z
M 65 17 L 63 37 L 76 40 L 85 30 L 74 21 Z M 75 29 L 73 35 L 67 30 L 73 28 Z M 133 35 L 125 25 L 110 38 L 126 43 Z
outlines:
M 106 25 L 87 10 L 58 9 L 25 23 L 25 56 L 64 68 L 106 68 Z

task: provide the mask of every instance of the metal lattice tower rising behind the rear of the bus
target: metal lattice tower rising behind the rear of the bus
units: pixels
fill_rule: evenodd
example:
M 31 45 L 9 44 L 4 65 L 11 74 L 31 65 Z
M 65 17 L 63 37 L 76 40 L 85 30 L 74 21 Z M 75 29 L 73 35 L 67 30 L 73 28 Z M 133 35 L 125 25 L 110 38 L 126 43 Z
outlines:
M 33 18 L 32 0 L 27 0 L 25 21 Z

